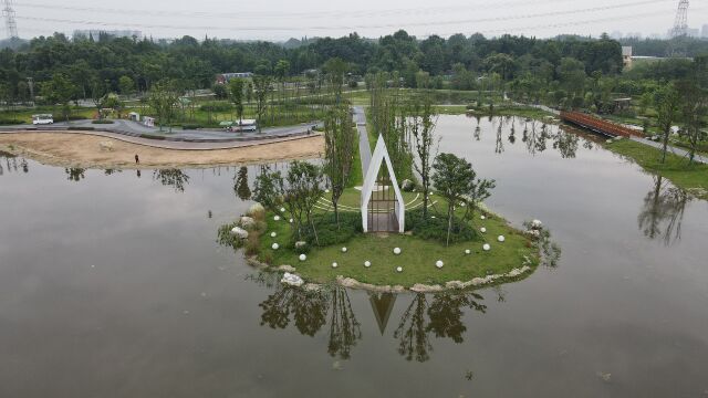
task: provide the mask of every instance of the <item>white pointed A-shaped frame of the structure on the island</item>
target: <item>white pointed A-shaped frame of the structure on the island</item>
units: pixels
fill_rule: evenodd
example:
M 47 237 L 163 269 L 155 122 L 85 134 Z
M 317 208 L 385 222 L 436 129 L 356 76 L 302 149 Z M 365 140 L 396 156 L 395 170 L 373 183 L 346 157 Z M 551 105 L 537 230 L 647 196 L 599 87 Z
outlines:
M 378 177 L 378 170 L 386 164 L 388 168 L 388 175 L 391 176 L 391 184 L 394 187 L 394 191 L 396 193 L 396 199 L 398 200 L 398 208 L 396 209 L 396 216 L 398 218 L 398 229 L 399 232 L 405 232 L 405 212 L 406 212 L 406 202 L 403 199 L 403 195 L 400 193 L 400 188 L 398 187 L 398 180 L 396 179 L 396 174 L 394 172 L 394 165 L 391 161 L 391 156 L 388 155 L 388 148 L 386 148 L 386 142 L 384 137 L 378 135 L 378 140 L 376 142 L 376 148 L 374 149 L 374 154 L 372 155 L 372 159 L 368 163 L 368 170 L 366 170 L 366 176 L 364 178 L 364 186 L 362 188 L 362 221 L 364 223 L 364 232 L 368 231 L 368 201 L 372 199 L 372 193 L 374 192 L 374 188 L 376 187 L 376 177 Z

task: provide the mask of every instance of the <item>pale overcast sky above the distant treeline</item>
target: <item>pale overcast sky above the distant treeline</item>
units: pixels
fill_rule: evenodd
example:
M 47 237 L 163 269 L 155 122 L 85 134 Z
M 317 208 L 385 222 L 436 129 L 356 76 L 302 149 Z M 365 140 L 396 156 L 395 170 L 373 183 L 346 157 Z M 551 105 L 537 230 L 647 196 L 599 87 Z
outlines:
M 378 38 L 398 29 L 417 36 L 503 33 L 553 36 L 603 32 L 665 34 L 678 0 L 14 0 L 21 38 L 75 29 L 139 30 L 154 38 L 189 34 L 283 40 Z M 708 24 L 708 0 L 691 0 L 688 24 Z

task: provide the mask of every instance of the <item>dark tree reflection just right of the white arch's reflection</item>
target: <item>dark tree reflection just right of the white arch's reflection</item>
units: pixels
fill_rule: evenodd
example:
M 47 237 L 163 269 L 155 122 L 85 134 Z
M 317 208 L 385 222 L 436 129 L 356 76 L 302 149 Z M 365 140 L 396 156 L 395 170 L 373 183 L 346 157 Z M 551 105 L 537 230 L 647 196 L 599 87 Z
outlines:
M 455 343 L 462 343 L 462 334 L 467 332 L 462 310 L 471 308 L 486 313 L 487 306 L 478 303 L 481 300 L 485 298 L 473 292 L 441 293 L 434 295 L 428 305 L 425 294 L 416 294 L 394 332 L 394 338 L 398 339 L 398 353 L 406 360 L 428 360 L 433 352 L 430 333 L 437 338 L 450 338 Z

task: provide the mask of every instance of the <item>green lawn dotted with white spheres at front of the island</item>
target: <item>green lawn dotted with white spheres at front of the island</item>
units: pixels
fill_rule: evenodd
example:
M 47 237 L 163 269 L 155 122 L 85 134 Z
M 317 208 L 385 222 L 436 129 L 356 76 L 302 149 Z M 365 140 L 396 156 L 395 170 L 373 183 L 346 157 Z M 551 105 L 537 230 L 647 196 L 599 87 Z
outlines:
M 356 203 L 351 202 L 357 192 L 347 191 L 348 205 L 357 206 L 357 199 Z M 415 193 L 410 193 L 408 198 L 414 199 Z M 434 209 L 431 211 L 436 213 Z M 436 217 L 444 216 L 436 213 Z M 288 216 L 274 221 L 273 214 L 269 214 L 267 223 L 268 228 L 261 235 L 259 259 L 274 266 L 295 266 L 305 280 L 317 283 L 329 283 L 342 275 L 375 285 L 444 285 L 450 281 L 466 282 L 488 274 L 508 273 L 521 268 L 524 256 L 532 260 L 534 268 L 538 265 L 538 249 L 529 238 L 510 227 L 506 220 L 492 214 L 486 220 L 477 218 L 475 228 L 479 230 L 485 227 L 487 233 L 479 232 L 468 242 L 446 247 L 438 241 L 409 234 L 357 234 L 346 243 L 311 249 L 306 261 L 300 261 L 301 253 L 291 248 L 292 231 Z M 275 232 L 277 237 L 271 238 L 271 232 Z M 506 241 L 498 242 L 499 235 L 504 235 Z M 278 243 L 280 248 L 273 250 L 273 243 Z M 482 250 L 485 243 L 491 245 L 490 251 Z M 342 252 L 344 247 L 347 248 L 346 253 Z M 394 248 L 400 248 L 402 254 L 394 254 Z M 465 253 L 468 249 L 471 254 Z M 445 263 L 442 269 L 436 268 L 438 260 Z M 365 268 L 365 261 L 371 261 L 372 266 Z M 332 268 L 333 262 L 337 263 L 336 269 Z M 398 266 L 404 271 L 398 273 Z

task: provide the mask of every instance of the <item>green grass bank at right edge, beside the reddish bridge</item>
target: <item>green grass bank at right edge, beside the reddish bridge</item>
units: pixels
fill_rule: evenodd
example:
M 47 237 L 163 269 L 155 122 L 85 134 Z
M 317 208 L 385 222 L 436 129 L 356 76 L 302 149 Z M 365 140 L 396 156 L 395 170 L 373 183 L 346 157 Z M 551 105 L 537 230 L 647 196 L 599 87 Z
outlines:
M 674 154 L 666 155 L 666 163 L 660 163 L 662 151 L 629 139 L 605 144 L 605 147 L 636 161 L 644 169 L 662 175 L 677 187 L 690 190 L 702 199 L 708 199 L 708 165 L 688 165 L 688 159 Z M 702 192 L 702 193 L 701 193 Z

